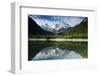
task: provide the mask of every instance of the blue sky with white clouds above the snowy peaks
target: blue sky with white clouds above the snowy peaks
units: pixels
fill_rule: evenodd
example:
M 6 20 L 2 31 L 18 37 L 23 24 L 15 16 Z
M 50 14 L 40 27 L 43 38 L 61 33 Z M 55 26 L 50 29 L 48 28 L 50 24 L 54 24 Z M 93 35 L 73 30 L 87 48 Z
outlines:
M 48 24 L 51 27 L 55 24 L 70 25 L 71 27 L 81 23 L 84 17 L 77 16 L 47 16 L 47 15 L 30 15 L 39 25 Z

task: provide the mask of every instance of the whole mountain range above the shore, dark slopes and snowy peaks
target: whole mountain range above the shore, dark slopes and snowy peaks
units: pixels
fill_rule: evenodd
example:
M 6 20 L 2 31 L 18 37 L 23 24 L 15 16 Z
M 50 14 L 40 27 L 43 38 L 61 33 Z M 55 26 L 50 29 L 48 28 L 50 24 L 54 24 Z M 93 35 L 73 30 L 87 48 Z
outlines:
M 67 27 L 64 27 L 60 24 L 55 24 L 55 27 L 53 29 L 48 25 L 45 24 L 44 26 L 40 26 L 36 23 L 35 20 L 33 20 L 31 17 L 28 17 L 28 33 L 30 35 L 54 35 L 54 34 L 87 34 L 88 32 L 88 19 L 84 18 L 83 21 L 81 21 L 80 24 L 71 27 L 67 25 Z

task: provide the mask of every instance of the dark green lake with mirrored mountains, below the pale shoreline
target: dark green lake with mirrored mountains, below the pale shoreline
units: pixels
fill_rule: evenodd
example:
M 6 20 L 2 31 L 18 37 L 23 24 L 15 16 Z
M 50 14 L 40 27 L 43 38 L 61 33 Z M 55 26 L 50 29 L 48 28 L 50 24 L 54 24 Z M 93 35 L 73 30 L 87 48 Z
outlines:
M 88 58 L 88 42 L 28 41 L 28 60 Z

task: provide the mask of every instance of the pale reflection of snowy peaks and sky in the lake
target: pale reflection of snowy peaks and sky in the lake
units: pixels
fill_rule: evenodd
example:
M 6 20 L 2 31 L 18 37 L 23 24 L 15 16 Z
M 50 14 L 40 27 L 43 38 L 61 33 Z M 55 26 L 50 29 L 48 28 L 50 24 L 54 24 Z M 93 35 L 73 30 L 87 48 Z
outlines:
M 61 46 L 51 46 L 42 49 L 32 60 L 80 59 L 82 56 L 73 50 Z

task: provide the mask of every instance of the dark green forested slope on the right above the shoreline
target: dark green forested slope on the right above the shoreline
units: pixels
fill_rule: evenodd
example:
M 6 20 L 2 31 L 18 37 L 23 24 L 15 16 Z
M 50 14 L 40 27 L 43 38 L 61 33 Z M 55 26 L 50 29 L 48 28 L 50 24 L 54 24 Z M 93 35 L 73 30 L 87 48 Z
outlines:
M 65 29 L 63 32 L 63 35 L 79 35 L 80 37 L 84 35 L 84 37 L 87 38 L 88 35 L 88 19 L 84 18 L 83 21 L 74 26 L 74 27 L 70 27 L 68 29 Z

